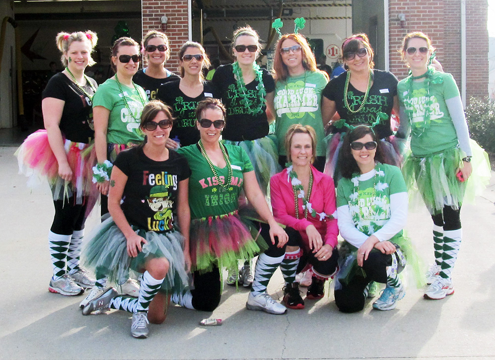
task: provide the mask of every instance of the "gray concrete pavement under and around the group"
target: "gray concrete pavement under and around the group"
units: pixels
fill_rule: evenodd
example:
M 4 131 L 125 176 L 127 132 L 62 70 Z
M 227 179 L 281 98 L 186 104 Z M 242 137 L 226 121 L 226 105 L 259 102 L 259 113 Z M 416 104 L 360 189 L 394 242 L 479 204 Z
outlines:
M 82 316 L 82 297 L 48 292 L 50 192 L 47 184 L 26 187 L 14 151 L 0 147 L 0 359 L 495 359 L 494 181 L 476 205 L 463 206 L 455 294 L 444 300 L 424 300 L 424 289 L 409 284 L 395 310 L 373 310 L 370 301 L 343 314 L 330 291 L 277 316 L 246 310 L 247 290 L 226 286 L 213 313 L 171 306 L 164 324 L 136 340 L 130 314 Z M 88 231 L 97 223 L 92 215 Z M 410 212 L 407 233 L 425 262 L 433 261 L 424 208 Z M 282 285 L 277 272 L 269 293 L 281 298 Z M 199 326 L 207 317 L 224 324 Z

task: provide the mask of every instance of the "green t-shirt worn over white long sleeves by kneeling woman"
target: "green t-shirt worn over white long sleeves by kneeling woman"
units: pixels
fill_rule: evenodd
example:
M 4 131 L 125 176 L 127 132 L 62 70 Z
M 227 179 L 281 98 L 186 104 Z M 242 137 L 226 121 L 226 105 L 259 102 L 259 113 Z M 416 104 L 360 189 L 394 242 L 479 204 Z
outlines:
M 352 179 L 339 180 L 337 207 L 349 205 L 356 228 L 361 233 L 372 235 L 390 219 L 390 195 L 398 192 L 407 192 L 400 169 L 379 164 L 378 173 L 371 179 L 360 181 L 356 175 Z

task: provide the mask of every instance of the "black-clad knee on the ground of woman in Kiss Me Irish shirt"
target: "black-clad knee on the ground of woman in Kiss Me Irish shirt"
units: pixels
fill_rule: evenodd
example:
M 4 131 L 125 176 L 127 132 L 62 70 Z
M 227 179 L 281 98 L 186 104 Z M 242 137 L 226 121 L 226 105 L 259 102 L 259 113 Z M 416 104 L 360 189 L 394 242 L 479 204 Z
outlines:
M 194 290 L 193 307 L 201 311 L 213 311 L 220 303 L 220 271 L 214 267 L 207 273 L 199 274 L 198 271 L 193 273 Z

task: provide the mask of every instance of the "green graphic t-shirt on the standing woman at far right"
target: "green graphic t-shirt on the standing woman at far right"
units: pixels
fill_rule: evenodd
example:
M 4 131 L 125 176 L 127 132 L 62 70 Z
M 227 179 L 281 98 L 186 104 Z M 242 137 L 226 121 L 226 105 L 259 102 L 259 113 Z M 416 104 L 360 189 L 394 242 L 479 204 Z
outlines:
M 451 74 L 435 71 L 433 82 L 400 80 L 397 92 L 400 106 L 406 110 L 412 128 L 411 150 L 415 156 L 426 156 L 451 149 L 458 144 L 457 133 L 445 103 L 459 96 L 459 89 Z M 409 83 L 412 93 L 409 94 Z M 428 112 L 429 121 L 425 122 Z

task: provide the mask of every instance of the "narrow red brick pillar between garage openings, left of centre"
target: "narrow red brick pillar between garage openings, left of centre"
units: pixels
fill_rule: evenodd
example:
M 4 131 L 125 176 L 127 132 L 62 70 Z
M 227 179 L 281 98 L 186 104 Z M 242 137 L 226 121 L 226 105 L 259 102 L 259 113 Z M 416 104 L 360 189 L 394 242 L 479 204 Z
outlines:
M 141 0 L 143 36 L 149 30 L 161 30 L 160 18 L 168 17 L 165 33 L 170 42 L 170 59 L 166 67 L 177 72 L 179 49 L 189 40 L 188 0 Z

